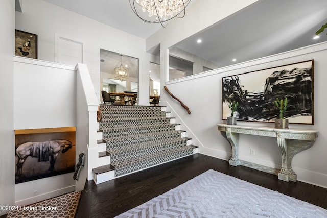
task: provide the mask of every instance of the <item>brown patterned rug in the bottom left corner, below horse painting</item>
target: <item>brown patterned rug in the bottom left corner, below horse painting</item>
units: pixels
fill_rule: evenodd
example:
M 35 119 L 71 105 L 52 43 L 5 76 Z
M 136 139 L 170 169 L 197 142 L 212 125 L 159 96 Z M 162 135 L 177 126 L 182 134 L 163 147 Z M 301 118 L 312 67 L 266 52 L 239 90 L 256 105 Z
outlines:
M 12 217 L 74 217 L 79 203 L 81 191 L 74 191 L 56 198 L 41 201 L 28 206 L 19 206 L 11 211 L 7 218 Z

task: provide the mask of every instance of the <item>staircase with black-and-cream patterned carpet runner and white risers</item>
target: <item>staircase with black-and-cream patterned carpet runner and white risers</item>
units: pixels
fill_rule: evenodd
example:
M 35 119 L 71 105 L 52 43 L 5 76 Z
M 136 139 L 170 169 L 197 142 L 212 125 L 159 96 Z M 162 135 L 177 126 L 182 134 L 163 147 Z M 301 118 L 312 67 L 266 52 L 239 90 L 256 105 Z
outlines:
M 96 184 L 197 153 L 166 107 L 100 105 Z

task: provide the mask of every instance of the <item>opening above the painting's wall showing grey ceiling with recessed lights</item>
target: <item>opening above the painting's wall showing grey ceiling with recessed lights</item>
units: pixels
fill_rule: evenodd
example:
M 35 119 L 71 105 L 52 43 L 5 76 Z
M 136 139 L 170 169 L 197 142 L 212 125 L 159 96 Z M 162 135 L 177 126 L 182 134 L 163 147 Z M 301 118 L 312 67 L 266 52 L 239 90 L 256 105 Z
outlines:
M 170 67 L 190 76 L 325 42 L 324 33 L 313 37 L 327 22 L 326 14 L 325 0 L 260 1 L 174 45 Z M 193 63 L 192 70 L 185 62 Z

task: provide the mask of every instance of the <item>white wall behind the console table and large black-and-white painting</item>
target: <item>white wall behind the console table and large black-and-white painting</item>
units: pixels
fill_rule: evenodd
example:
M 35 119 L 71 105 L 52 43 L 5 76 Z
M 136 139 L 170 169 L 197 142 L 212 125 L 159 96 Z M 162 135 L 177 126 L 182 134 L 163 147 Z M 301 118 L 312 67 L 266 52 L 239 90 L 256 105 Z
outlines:
M 190 108 L 191 115 L 172 98 L 167 99 L 166 104 L 178 114 L 184 127 L 189 128 L 190 133 L 194 134 L 190 137 L 195 137 L 195 145 L 200 146 L 200 153 L 228 159 L 231 153 L 230 145 L 216 126 L 217 123 L 226 123 L 221 120 L 222 77 L 314 59 L 314 125 L 290 124 L 289 127 L 318 130 L 318 138 L 312 148 L 295 155 L 292 167 L 299 181 L 327 187 L 327 159 L 325 158 L 327 118 L 324 115 L 324 108 L 327 106 L 324 98 L 327 80 L 326 57 L 327 43 L 322 43 L 170 81 L 166 83 L 167 87 Z M 274 126 L 273 123 L 259 122 L 238 122 L 238 124 Z M 281 168 L 281 155 L 275 138 L 241 134 L 239 145 L 239 159 Z M 250 148 L 255 149 L 254 156 L 250 155 Z

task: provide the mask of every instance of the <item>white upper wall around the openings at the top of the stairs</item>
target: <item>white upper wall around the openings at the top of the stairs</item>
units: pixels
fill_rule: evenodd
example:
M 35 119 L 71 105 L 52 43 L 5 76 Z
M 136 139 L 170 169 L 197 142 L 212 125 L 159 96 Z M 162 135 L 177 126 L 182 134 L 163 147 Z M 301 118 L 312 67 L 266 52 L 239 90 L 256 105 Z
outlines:
M 38 35 L 38 59 L 55 61 L 55 34 L 83 42 L 84 64 L 100 100 L 100 49 L 139 59 L 139 103 L 149 104 L 149 61 L 145 40 L 42 0 L 24 1 L 16 29 Z

